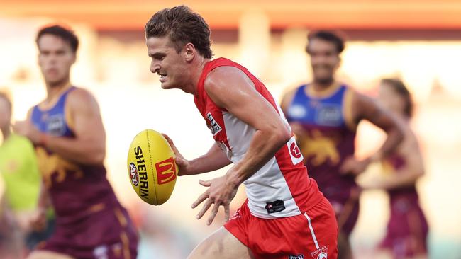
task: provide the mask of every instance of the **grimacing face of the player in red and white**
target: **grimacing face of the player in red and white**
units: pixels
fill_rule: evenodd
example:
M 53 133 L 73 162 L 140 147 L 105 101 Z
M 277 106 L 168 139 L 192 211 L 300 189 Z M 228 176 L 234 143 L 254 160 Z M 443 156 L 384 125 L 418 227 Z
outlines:
M 146 40 L 151 59 L 150 71 L 160 76 L 162 88 L 181 88 L 187 81 L 187 62 L 183 52 L 177 52 L 170 38 L 150 37 Z

